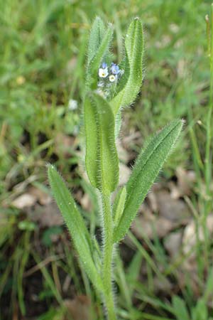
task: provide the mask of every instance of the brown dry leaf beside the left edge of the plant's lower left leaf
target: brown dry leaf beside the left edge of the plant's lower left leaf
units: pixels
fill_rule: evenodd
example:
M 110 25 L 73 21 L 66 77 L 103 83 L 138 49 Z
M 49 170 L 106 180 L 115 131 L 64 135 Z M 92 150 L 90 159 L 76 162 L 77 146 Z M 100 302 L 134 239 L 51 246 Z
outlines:
M 62 225 L 62 215 L 56 203 L 49 203 L 47 206 L 36 204 L 33 208 L 26 210 L 31 221 L 38 222 L 41 227 L 53 227 Z

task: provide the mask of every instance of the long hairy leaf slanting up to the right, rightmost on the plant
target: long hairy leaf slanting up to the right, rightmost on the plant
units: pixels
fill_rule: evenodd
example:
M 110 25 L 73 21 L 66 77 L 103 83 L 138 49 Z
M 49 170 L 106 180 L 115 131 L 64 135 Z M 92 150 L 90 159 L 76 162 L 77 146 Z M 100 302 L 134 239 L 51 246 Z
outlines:
M 148 190 L 158 176 L 168 154 L 173 149 L 181 129 L 181 120 L 171 122 L 151 139 L 146 149 L 138 156 L 129 181 L 126 184 L 124 213 L 121 216 L 118 227 L 114 230 L 114 242 L 121 240 L 129 230 L 139 206 L 141 206 Z

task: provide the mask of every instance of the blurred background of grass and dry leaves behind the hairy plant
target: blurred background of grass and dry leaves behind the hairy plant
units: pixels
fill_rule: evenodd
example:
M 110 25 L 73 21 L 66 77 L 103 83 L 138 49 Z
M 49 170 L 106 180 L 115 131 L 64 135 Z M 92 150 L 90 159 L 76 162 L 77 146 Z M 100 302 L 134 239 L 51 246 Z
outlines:
M 119 315 L 211 319 L 212 151 L 207 154 L 206 141 L 212 128 L 206 122 L 213 91 L 204 19 L 210 13 L 208 0 L 0 0 L 0 319 L 104 319 L 51 201 L 45 169 L 47 162 L 60 169 L 90 232 L 99 236 L 99 204 L 82 166 L 80 116 L 96 15 L 114 23 L 115 61 L 131 18 L 143 20 L 145 77 L 136 105 L 124 112 L 119 146 L 124 181 L 148 134 L 171 119 L 186 120 L 141 208 L 139 228 L 116 257 Z M 140 220 L 143 215 L 151 219 Z M 175 235 L 180 243 L 171 249 L 166 243 Z

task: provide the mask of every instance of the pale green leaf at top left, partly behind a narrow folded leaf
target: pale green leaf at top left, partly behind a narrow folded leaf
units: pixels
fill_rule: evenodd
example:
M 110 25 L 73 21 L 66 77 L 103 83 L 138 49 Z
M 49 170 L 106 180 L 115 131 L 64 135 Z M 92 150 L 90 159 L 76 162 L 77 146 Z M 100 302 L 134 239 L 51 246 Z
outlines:
M 102 21 L 101 18 L 99 18 L 99 16 L 97 16 L 94 19 L 94 22 L 92 23 L 92 28 L 89 35 L 89 44 L 88 44 L 88 50 L 87 50 L 88 65 L 92 61 L 92 58 L 94 58 L 94 55 L 96 55 L 97 49 L 99 48 L 104 38 L 104 33 L 105 33 L 104 22 Z

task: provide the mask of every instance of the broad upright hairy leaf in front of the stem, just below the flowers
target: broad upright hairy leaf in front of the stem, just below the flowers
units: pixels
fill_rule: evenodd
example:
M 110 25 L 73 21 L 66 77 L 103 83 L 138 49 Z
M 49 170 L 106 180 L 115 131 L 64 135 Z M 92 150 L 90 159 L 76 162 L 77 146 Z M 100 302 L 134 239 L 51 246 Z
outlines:
M 109 103 L 93 92 L 89 92 L 84 101 L 84 127 L 89 181 L 103 193 L 110 193 L 119 180 L 114 114 Z

